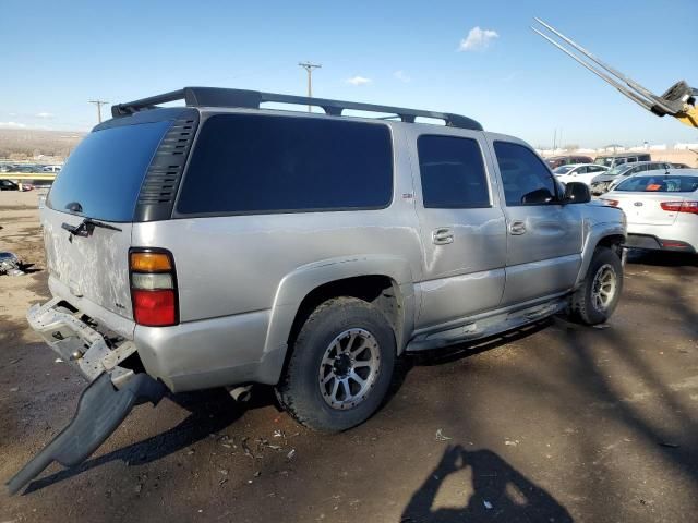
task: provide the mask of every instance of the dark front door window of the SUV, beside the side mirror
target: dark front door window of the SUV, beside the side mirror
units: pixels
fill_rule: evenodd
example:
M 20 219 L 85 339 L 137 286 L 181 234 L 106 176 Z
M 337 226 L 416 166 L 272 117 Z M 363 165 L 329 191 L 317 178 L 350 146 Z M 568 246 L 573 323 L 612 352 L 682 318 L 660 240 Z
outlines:
M 528 147 L 494 142 L 506 205 L 545 205 L 555 202 L 556 184 L 550 170 Z

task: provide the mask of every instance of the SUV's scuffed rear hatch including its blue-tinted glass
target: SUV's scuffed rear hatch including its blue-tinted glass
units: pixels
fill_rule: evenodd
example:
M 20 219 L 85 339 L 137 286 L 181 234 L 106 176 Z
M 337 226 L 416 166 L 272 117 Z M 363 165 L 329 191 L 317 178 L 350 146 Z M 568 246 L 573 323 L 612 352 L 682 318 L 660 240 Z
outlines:
M 148 167 L 171 125 L 171 120 L 107 122 L 71 154 L 41 210 L 51 288 L 61 297 L 133 318 L 131 228 Z

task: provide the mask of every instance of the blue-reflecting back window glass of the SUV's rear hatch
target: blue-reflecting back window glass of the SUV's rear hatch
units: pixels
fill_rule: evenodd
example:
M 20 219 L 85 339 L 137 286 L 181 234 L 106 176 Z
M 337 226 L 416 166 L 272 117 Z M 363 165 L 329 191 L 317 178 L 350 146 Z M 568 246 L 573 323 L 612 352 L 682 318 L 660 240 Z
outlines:
M 171 121 L 140 123 L 89 133 L 68 158 L 48 194 L 47 206 L 81 216 L 132 221 L 143 178 Z

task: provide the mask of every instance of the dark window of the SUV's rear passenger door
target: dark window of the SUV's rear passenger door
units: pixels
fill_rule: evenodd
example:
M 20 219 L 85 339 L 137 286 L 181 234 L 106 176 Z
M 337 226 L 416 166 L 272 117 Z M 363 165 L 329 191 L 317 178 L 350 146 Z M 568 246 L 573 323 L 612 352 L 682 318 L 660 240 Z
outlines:
M 477 141 L 422 135 L 417 139 L 417 151 L 424 207 L 490 207 L 488 177 Z

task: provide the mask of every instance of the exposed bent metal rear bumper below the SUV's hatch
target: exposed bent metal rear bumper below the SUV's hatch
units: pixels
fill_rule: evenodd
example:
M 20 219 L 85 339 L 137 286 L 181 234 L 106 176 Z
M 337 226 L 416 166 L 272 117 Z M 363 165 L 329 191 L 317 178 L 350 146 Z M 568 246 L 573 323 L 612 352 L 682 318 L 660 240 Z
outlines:
M 133 370 L 119 366 L 136 351 L 131 341 L 109 346 L 105 338 L 89 325 L 60 307 L 61 297 L 44 305 L 34 305 L 27 312 L 29 326 L 67 363 L 94 381 L 108 373 L 115 386 L 120 387 L 134 375 Z

